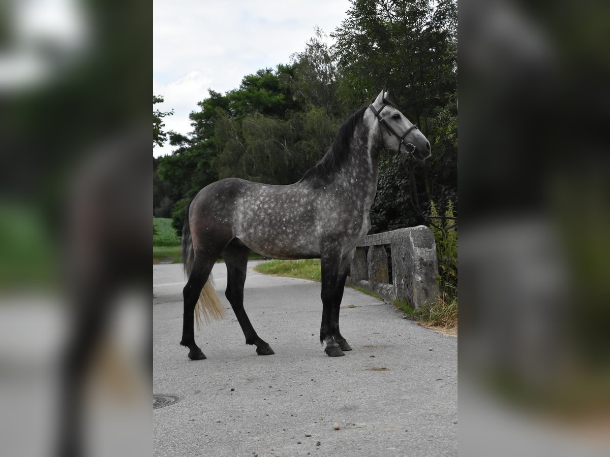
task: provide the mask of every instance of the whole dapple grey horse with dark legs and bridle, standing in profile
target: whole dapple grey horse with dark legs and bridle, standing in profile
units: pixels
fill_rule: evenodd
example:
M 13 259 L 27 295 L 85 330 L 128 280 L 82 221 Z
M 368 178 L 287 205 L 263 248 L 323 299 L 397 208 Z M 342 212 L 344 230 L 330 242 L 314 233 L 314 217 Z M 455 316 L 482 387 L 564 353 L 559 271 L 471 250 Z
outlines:
M 430 156 L 426 137 L 387 99 L 382 90 L 340 128 L 334 143 L 300 181 L 277 186 L 229 178 L 203 188 L 187 207 L 182 230 L 184 287 L 181 344 L 191 360 L 206 358 L 195 344 L 193 316 L 224 313 L 208 281 L 224 258 L 226 297 L 246 337 L 259 355 L 273 354 L 243 308 L 243 285 L 250 250 L 281 259 L 320 258 L 322 323 L 320 342 L 329 356 L 351 350 L 339 331 L 345 278 L 357 243 L 370 228 L 382 149 Z

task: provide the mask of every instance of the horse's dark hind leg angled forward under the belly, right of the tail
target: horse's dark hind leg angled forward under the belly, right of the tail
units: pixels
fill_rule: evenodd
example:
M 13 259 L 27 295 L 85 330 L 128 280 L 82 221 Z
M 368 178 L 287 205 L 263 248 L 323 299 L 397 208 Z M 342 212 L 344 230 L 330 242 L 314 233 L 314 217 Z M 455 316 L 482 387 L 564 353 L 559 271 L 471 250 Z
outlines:
M 263 341 L 254 330 L 248 314 L 243 309 L 243 285 L 246 281 L 246 268 L 248 267 L 249 248 L 238 239 L 234 239 L 224 249 L 222 257 L 227 267 L 227 289 L 225 296 L 237 316 L 237 321 L 242 327 L 246 344 L 256 345 L 258 355 L 273 355 L 273 349 Z

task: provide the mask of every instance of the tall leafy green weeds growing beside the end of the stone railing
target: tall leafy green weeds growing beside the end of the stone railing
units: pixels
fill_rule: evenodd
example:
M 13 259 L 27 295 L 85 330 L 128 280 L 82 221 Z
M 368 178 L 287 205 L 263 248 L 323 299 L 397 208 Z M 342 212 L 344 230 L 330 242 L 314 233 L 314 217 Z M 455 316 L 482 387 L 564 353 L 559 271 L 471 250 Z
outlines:
M 439 212 L 434 202 L 430 202 L 430 215 L 433 217 L 439 216 Z M 455 217 L 453 210 L 453 202 L 449 200 L 445 217 Z M 458 230 L 456 227 L 451 227 L 455 221 L 446 219 L 443 222 L 434 222 L 439 227 L 445 230 L 440 230 L 434 226 L 430 226 L 434 233 L 434 241 L 436 241 L 436 253 L 439 260 L 439 286 L 443 294 L 447 294 L 450 300 L 458 296 Z

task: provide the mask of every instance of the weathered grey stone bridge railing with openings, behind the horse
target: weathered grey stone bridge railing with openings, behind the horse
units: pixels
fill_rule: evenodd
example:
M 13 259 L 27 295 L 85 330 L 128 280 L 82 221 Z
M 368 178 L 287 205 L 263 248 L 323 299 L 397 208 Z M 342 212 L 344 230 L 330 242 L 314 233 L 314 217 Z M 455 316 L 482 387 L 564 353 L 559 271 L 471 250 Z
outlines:
M 392 284 L 386 245 L 392 252 Z M 418 225 L 366 236 L 356 247 L 348 282 L 389 300 L 407 300 L 417 309 L 438 296 L 438 274 L 434 235 L 425 225 Z

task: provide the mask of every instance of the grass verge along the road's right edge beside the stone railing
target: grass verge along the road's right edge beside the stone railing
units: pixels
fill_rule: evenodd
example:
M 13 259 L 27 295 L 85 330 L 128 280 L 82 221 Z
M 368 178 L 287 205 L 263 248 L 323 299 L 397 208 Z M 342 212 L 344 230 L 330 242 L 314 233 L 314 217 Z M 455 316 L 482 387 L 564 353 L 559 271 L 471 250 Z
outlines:
M 258 264 L 254 269 L 262 274 L 309 279 L 317 282 L 321 280 L 319 259 L 270 260 Z M 350 285 L 350 287 L 376 299 L 385 300 L 379 294 L 361 286 Z M 450 333 L 457 332 L 458 330 L 458 299 L 450 298 L 447 294 L 443 294 L 436 302 L 419 310 L 414 310 L 411 303 L 406 300 L 392 300 L 392 304 L 403 311 L 409 319 L 426 327 L 440 328 Z

